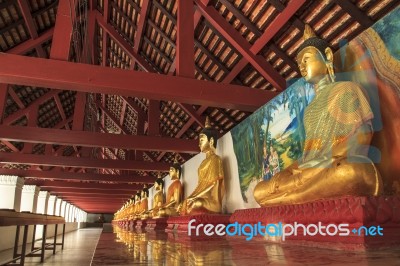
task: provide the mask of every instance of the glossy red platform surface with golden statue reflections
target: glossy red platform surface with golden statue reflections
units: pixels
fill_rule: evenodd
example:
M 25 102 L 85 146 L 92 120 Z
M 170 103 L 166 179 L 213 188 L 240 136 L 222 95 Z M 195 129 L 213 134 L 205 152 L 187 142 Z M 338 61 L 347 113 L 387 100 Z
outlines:
M 189 241 L 185 235 L 114 227 L 102 233 L 92 265 L 398 265 L 399 251 L 335 251 L 233 238 Z

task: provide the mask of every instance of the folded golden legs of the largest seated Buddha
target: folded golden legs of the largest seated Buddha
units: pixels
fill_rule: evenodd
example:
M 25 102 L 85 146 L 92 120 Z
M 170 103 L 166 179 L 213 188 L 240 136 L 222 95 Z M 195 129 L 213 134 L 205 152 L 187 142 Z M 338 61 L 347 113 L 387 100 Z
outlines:
M 336 158 L 327 168 L 296 170 L 285 170 L 257 184 L 256 201 L 261 206 L 299 204 L 345 195 L 378 196 L 383 191 L 379 172 L 364 156 Z

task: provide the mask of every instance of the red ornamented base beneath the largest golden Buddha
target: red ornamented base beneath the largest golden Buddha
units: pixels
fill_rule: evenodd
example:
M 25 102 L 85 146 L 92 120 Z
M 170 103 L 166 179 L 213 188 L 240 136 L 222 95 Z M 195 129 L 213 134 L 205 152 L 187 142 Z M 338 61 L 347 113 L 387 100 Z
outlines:
M 254 234 L 252 240 L 347 250 L 391 247 L 400 245 L 400 197 L 347 196 L 299 205 L 237 210 L 230 219 L 230 223 L 235 222 L 274 225 L 268 227 L 265 236 Z M 297 235 L 294 235 L 296 224 Z M 246 236 L 233 238 L 246 239 Z

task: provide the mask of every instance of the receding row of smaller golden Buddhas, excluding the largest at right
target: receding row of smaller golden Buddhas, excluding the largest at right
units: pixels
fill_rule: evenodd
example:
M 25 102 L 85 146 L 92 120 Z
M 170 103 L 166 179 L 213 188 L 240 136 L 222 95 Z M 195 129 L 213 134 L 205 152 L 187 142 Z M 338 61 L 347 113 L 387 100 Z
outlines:
M 148 208 L 149 190 L 145 186 L 132 197 L 117 213 L 115 219 L 148 219 L 177 215 L 221 213 L 222 198 L 225 193 L 224 170 L 221 158 L 215 154 L 217 132 L 211 128 L 208 117 L 199 137 L 200 151 L 206 158 L 198 168 L 199 181 L 189 197 L 183 199 L 180 181 L 182 169 L 175 158 L 169 169 L 171 184 L 164 201 L 164 180 L 159 175 L 154 183 L 152 208 Z

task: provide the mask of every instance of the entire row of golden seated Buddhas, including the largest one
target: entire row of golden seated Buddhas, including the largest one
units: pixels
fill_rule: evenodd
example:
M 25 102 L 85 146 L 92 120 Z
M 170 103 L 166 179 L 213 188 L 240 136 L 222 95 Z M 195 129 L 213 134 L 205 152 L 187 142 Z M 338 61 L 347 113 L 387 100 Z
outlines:
M 259 182 L 254 198 L 262 207 L 301 204 L 340 196 L 382 194 L 382 178 L 367 157 L 373 129 L 368 97 L 355 82 L 335 81 L 333 52 L 325 40 L 306 25 L 304 42 L 297 53 L 300 73 L 315 91 L 306 107 L 302 157 L 269 180 Z M 172 184 L 164 202 L 163 181 L 155 182 L 152 209 L 147 207 L 147 188 L 118 213 L 118 217 L 157 218 L 174 215 L 221 213 L 225 193 L 221 158 L 215 154 L 216 131 L 208 119 L 199 136 L 206 158 L 198 168 L 198 184 L 184 200 L 181 167 L 170 168 Z M 123 215 L 122 215 L 123 214 Z

